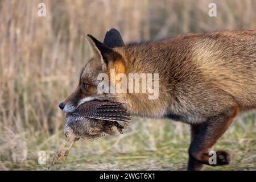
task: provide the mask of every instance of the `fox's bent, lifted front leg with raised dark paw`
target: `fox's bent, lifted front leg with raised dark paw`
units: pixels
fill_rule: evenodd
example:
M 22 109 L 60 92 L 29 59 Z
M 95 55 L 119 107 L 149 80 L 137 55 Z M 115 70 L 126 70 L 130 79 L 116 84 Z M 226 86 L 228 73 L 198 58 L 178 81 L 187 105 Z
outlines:
M 217 117 L 210 118 L 205 122 L 192 140 L 189 147 L 189 158 L 193 158 L 201 164 L 207 164 L 210 166 L 221 166 L 229 164 L 230 156 L 228 152 L 217 151 L 216 164 L 209 164 L 209 149 L 217 142 L 218 138 L 228 129 L 230 124 L 233 122 L 234 118 L 239 112 L 239 107 L 233 107 L 227 110 L 225 113 L 218 115 Z M 191 159 L 192 160 L 192 159 Z M 194 168 L 188 168 L 190 170 L 196 170 L 198 166 L 195 165 Z

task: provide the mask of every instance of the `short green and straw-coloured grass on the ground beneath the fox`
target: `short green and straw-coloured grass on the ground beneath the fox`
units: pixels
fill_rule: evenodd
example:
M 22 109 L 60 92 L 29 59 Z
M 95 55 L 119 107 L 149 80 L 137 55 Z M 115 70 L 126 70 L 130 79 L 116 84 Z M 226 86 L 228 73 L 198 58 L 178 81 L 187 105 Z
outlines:
M 37 139 L 27 140 L 26 160 L 13 162 L 5 160 L 9 155 L 2 155 L 0 169 L 47 170 L 63 140 L 63 131 L 48 138 L 39 134 Z M 69 154 L 67 165 L 56 165 L 51 170 L 185 170 L 188 146 L 187 125 L 133 118 L 125 134 L 93 142 L 79 140 Z M 256 170 L 254 115 L 237 118 L 213 147 L 218 149 L 229 151 L 232 162 L 227 166 L 205 167 L 205 170 Z M 39 151 L 46 152 L 45 165 L 38 164 Z

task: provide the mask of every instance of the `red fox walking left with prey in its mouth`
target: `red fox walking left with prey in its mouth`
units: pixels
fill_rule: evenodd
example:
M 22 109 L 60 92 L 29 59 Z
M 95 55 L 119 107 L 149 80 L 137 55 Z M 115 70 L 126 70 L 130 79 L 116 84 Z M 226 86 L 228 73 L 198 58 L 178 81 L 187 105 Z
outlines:
M 191 127 L 187 169 L 230 163 L 230 154 L 209 150 L 238 114 L 256 108 L 256 29 L 187 33 L 174 38 L 124 44 L 118 30 L 104 42 L 86 36 L 92 58 L 81 71 L 77 88 L 59 105 L 71 113 L 81 104 L 106 100 L 126 104 L 130 114 L 167 118 Z M 159 96 L 148 93 L 99 93 L 100 73 L 158 73 Z M 116 78 L 110 81 L 118 82 Z

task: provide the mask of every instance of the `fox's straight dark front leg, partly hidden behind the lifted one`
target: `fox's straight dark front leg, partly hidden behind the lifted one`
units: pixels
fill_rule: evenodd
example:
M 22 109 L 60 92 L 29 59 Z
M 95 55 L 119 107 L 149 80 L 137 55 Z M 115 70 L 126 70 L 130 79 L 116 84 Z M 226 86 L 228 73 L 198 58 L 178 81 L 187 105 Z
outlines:
M 196 135 L 199 134 L 203 127 L 203 124 L 191 125 L 191 143 L 196 138 Z M 199 171 L 204 168 L 204 164 L 201 164 L 195 160 L 192 156 L 189 155 L 188 159 L 188 170 Z

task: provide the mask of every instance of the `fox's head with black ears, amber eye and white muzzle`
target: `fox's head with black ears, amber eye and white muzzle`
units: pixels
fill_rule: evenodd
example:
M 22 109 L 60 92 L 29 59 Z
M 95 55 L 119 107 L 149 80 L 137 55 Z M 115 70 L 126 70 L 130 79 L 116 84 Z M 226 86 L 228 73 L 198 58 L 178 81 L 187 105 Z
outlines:
M 119 32 L 111 29 L 106 33 L 104 43 L 101 43 L 92 35 L 87 35 L 87 40 L 92 51 L 93 58 L 88 61 L 81 71 L 79 84 L 60 104 L 59 107 L 65 113 L 71 113 L 84 102 L 92 100 L 111 100 L 110 94 L 98 92 L 98 84 L 101 80 L 97 77 L 100 73 L 110 74 L 110 69 L 117 73 L 125 73 L 125 64 L 120 51 L 114 47 L 123 46 L 123 40 Z

